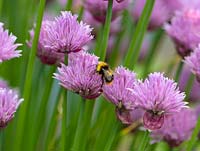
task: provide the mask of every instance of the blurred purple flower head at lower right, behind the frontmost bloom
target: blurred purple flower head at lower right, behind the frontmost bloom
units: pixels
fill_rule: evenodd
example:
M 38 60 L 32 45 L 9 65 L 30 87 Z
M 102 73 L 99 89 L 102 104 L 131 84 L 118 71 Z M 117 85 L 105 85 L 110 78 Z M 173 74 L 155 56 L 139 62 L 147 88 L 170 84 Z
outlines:
M 170 146 L 179 146 L 189 139 L 196 125 L 197 116 L 192 109 L 182 109 L 180 112 L 165 119 L 161 129 L 152 132 L 154 142 L 165 140 Z

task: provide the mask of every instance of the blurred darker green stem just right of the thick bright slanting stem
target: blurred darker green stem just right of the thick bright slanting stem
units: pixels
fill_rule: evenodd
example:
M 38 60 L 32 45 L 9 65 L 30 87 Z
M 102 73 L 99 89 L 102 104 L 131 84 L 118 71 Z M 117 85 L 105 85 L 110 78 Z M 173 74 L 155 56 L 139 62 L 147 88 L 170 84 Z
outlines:
M 147 74 L 149 73 L 149 68 L 151 66 L 151 62 L 153 61 L 153 58 L 158 50 L 157 46 L 158 46 L 159 42 L 161 41 L 163 34 L 164 34 L 164 31 L 162 29 L 158 29 L 154 35 L 153 42 L 152 42 L 150 50 L 147 54 L 147 59 L 145 60 L 143 77 L 146 77 Z

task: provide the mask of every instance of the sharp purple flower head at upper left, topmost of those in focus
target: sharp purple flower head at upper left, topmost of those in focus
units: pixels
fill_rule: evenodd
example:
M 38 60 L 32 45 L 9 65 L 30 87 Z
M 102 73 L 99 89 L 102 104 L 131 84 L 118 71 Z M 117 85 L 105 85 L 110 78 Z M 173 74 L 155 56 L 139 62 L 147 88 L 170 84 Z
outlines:
M 44 47 L 62 53 L 80 51 L 93 36 L 89 25 L 82 21 L 79 23 L 77 17 L 71 12 L 61 12 L 61 15 L 46 29 Z

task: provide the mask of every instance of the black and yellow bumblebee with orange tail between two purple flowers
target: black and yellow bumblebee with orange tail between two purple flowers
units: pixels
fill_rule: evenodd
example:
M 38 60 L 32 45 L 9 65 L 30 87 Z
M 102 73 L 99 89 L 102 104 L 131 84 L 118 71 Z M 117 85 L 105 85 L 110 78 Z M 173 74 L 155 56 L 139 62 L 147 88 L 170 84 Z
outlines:
M 114 79 L 113 71 L 110 69 L 109 65 L 106 62 L 99 61 L 96 66 L 96 72 L 102 76 L 103 83 L 104 82 L 106 84 L 112 83 Z M 103 83 L 102 83 L 102 86 L 103 86 Z

